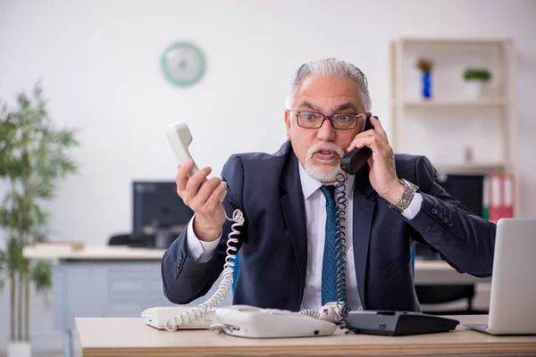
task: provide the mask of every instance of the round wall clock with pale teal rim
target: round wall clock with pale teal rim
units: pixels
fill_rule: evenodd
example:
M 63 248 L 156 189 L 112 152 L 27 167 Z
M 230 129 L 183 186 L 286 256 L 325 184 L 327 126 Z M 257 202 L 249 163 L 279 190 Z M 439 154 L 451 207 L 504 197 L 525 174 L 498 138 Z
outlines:
M 161 64 L 165 78 L 172 84 L 189 86 L 203 77 L 205 56 L 197 46 L 179 42 L 164 51 Z

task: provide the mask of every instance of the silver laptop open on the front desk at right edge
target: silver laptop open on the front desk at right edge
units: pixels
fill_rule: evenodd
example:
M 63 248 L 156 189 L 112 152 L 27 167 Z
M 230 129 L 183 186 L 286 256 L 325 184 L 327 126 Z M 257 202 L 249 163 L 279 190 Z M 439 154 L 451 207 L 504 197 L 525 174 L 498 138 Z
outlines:
M 497 222 L 488 324 L 490 335 L 536 335 L 536 219 Z

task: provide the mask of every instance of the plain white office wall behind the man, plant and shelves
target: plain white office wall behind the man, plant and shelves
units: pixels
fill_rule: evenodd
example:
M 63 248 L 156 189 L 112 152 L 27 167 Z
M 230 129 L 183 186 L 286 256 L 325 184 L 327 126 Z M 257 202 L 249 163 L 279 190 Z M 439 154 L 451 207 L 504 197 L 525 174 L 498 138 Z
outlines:
M 192 154 L 218 173 L 232 153 L 279 148 L 289 80 L 302 62 L 356 63 L 369 79 L 373 112 L 389 118 L 391 39 L 512 37 L 521 214 L 534 217 L 535 15 L 531 0 L 0 0 L 0 98 L 42 78 L 54 119 L 80 128 L 81 171 L 53 204 L 53 239 L 102 245 L 130 229 L 132 179 L 173 179 L 167 123 L 188 121 Z M 208 68 L 195 87 L 172 87 L 159 70 L 163 49 L 179 40 L 205 51 Z M 7 296 L 0 302 L 2 351 Z M 37 310 L 36 348 L 61 348 L 50 310 Z

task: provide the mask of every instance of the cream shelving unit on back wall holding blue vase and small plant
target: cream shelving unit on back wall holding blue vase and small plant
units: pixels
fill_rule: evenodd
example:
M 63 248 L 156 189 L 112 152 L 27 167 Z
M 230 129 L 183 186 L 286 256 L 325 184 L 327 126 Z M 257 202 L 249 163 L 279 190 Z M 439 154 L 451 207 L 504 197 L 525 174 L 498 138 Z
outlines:
M 419 58 L 431 60 L 432 96 L 421 95 Z M 510 173 L 519 214 L 515 46 L 508 38 L 398 38 L 391 43 L 391 134 L 395 152 L 424 154 L 443 174 Z M 467 67 L 492 73 L 487 93 L 465 93 Z M 467 152 L 471 154 L 466 155 Z M 464 154 L 465 153 L 465 154 Z M 465 160 L 469 156 L 470 160 Z M 447 158 L 447 159 L 446 159 Z

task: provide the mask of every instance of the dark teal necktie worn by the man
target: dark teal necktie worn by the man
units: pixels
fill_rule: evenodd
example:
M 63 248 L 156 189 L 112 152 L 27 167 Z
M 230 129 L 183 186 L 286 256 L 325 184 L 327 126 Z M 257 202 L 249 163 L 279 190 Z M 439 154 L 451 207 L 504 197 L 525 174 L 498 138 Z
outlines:
M 322 186 L 326 196 L 326 238 L 322 259 L 322 306 L 337 301 L 337 260 L 335 251 L 335 187 Z

